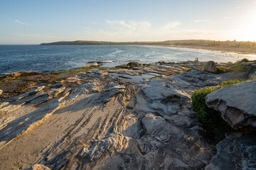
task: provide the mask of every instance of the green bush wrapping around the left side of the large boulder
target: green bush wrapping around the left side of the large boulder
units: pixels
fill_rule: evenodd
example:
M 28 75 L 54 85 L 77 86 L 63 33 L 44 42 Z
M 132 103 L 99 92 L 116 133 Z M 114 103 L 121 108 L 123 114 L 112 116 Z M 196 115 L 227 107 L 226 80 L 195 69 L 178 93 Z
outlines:
M 247 79 L 245 81 L 254 80 Z M 215 111 L 212 108 L 208 108 L 206 106 L 206 96 L 211 92 L 223 88 L 224 86 L 228 86 L 230 84 L 238 84 L 243 81 L 239 81 L 237 79 L 231 81 L 223 81 L 217 87 L 205 87 L 205 89 L 196 90 L 193 92 L 191 99 L 193 110 L 196 111 L 199 120 L 203 126 L 210 132 L 211 135 L 215 137 L 221 137 L 225 135 L 225 132 L 229 132 L 232 130 L 228 123 L 226 123 L 223 118 L 220 117 L 220 113 Z

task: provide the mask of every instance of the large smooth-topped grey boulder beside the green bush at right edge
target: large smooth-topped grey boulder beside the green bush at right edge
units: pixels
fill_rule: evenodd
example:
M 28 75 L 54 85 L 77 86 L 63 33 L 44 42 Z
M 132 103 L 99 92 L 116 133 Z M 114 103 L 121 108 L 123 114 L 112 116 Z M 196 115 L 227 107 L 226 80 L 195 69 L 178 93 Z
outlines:
M 256 128 L 256 80 L 225 86 L 206 96 L 206 105 L 220 111 L 234 129 Z

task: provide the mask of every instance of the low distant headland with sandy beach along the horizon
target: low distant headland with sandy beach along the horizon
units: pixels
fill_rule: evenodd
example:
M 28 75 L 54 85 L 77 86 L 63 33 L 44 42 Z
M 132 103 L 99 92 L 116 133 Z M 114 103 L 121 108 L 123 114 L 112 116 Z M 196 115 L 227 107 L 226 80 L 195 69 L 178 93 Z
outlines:
M 205 50 L 218 50 L 223 52 L 238 52 L 240 54 L 256 54 L 256 42 L 236 40 L 166 40 L 138 42 L 76 40 L 41 43 L 41 45 L 154 45 L 164 47 L 185 47 Z

